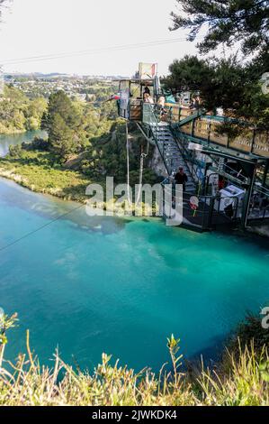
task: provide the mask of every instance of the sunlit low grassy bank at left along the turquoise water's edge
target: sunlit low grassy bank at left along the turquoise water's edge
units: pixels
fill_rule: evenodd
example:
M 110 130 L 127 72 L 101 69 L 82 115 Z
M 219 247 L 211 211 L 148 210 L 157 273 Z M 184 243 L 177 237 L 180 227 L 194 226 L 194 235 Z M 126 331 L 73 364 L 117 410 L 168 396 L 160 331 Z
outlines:
M 49 152 L 38 151 L 22 151 L 20 158 L 0 159 L 0 176 L 32 191 L 78 202 L 85 202 L 85 189 L 92 182 L 78 171 L 65 170 Z

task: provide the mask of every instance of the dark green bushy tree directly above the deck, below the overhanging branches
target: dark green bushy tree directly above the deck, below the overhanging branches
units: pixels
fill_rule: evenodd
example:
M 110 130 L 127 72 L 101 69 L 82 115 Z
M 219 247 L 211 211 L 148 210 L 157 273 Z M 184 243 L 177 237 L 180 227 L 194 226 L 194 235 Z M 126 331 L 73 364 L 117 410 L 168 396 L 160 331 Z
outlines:
M 245 66 L 231 57 L 228 60 L 201 60 L 185 56 L 169 67 L 164 80 L 174 92 L 199 91 L 207 110 L 222 107 L 226 115 L 234 115 L 268 128 L 269 95 L 262 92 L 256 66 Z

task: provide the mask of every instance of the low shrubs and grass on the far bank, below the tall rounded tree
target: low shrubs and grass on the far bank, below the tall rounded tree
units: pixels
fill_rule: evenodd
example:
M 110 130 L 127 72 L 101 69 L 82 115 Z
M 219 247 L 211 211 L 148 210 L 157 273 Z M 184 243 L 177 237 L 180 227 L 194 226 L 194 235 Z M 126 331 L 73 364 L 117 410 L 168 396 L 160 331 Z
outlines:
M 91 182 L 103 184 L 105 177 L 115 183 L 126 182 L 126 136 L 121 120 L 112 124 L 110 131 L 94 137 L 85 150 L 74 154 L 67 162 L 58 161 L 50 143 L 35 138 L 31 143 L 10 147 L 10 154 L 0 158 L 0 175 L 15 180 L 33 191 L 59 198 L 84 202 L 85 189 Z M 130 184 L 139 183 L 141 148 L 147 151 L 143 138 L 130 127 Z M 152 147 L 145 160 L 144 181 L 155 183 L 157 175 L 149 164 Z

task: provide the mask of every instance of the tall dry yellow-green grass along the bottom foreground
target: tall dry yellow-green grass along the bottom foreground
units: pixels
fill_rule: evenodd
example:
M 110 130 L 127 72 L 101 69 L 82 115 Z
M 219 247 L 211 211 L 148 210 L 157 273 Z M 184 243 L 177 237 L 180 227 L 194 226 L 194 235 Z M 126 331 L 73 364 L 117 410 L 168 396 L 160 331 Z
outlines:
M 4 318 L 5 330 L 13 327 L 13 318 Z M 269 405 L 269 356 L 264 348 L 256 355 L 254 345 L 239 346 L 238 357 L 226 355 L 214 370 L 181 372 L 179 340 L 167 339 L 170 355 L 158 374 L 145 369 L 140 373 L 112 364 L 102 355 L 92 375 L 65 364 L 58 352 L 54 365 L 42 366 L 31 352 L 29 332 L 27 355 L 19 355 L 16 364 L 3 359 L 6 337 L 0 345 L 0 405 L 4 406 L 265 406 Z M 8 365 L 8 366 L 7 366 Z M 172 371 L 166 371 L 166 369 Z M 12 370 L 12 371 L 10 371 Z

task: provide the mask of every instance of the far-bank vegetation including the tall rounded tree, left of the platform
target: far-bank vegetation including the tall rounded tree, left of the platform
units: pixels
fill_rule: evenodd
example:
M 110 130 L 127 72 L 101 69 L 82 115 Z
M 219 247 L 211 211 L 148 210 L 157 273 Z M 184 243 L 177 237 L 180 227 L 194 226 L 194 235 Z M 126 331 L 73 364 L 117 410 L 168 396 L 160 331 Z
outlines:
M 116 118 L 115 105 L 98 106 L 72 100 L 63 91 L 49 97 L 41 127 L 48 139 L 11 146 L 0 160 L 0 175 L 23 187 L 59 198 L 85 202 L 85 189 L 106 176 L 126 181 L 125 124 Z M 130 126 L 130 184 L 139 182 L 139 158 L 146 143 L 135 126 Z M 156 182 L 157 175 L 145 160 L 144 178 Z

